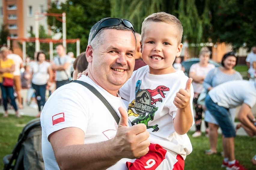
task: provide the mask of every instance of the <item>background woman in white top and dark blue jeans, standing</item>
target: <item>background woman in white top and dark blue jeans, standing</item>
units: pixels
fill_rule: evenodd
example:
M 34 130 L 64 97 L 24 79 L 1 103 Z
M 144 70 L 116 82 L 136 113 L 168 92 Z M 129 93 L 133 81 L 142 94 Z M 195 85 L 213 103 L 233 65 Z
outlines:
M 49 62 L 45 61 L 44 52 L 38 52 L 37 62 L 32 65 L 32 87 L 35 89 L 35 96 L 38 105 L 38 115 L 41 115 L 41 109 L 45 104 L 46 86 L 51 85 L 53 71 Z

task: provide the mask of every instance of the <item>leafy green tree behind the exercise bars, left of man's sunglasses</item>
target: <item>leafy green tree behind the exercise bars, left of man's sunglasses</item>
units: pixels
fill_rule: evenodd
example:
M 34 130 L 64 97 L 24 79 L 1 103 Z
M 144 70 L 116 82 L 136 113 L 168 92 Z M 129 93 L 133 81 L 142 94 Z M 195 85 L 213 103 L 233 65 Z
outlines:
M 108 0 L 69 0 L 61 4 L 61 9 L 52 3 L 47 12 L 66 12 L 67 39 L 79 38 L 81 51 L 85 51 L 91 27 L 100 19 L 110 16 L 110 4 Z M 62 23 L 53 16 L 48 16 L 47 22 L 53 32 L 62 32 Z M 67 45 L 68 51 L 75 53 L 75 48 L 75 44 Z

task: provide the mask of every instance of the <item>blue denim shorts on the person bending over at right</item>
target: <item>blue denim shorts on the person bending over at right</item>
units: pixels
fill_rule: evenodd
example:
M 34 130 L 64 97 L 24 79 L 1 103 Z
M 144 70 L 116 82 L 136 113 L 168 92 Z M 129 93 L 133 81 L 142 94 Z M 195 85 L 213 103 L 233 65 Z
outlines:
M 218 106 L 217 103 L 214 103 L 209 95 L 205 98 L 205 105 L 207 110 L 211 113 L 211 115 L 216 119 L 221 127 L 222 134 L 228 137 L 235 137 L 236 130 L 230 117 L 229 111 L 227 108 Z

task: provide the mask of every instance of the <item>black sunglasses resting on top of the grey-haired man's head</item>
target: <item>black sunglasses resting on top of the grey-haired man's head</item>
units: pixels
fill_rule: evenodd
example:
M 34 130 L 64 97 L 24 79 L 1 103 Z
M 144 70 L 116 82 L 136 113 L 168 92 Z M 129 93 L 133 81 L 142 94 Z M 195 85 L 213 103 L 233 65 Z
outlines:
M 107 18 L 102 20 L 99 25 L 97 26 L 95 32 L 92 35 L 92 39 L 98 34 L 98 32 L 102 29 L 102 28 L 106 28 L 106 27 L 112 27 L 112 26 L 117 26 L 119 24 L 123 23 L 124 26 L 126 26 L 127 28 L 130 28 L 134 33 L 135 30 L 133 28 L 133 24 L 132 22 L 130 22 L 127 19 L 121 19 L 121 18 Z

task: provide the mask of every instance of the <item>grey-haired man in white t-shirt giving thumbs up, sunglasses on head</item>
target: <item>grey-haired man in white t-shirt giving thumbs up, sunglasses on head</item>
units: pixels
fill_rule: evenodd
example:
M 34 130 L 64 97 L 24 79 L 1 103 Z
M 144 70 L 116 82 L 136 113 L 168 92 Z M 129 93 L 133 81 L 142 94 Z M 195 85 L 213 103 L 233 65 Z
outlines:
M 136 51 L 133 25 L 105 18 L 90 30 L 88 77 L 120 117 L 117 125 L 105 105 L 87 88 L 69 83 L 47 100 L 41 114 L 42 153 L 46 169 L 127 169 L 128 158 L 148 152 L 145 124 L 128 126 L 119 88 L 130 78 Z

